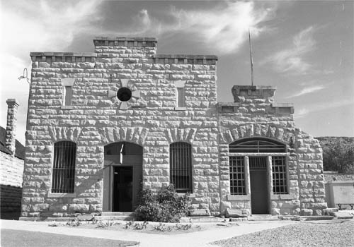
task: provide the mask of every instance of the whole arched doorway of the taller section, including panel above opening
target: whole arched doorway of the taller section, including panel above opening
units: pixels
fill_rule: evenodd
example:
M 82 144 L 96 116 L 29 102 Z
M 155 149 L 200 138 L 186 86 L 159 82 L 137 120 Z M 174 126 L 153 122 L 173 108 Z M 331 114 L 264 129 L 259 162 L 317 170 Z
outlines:
M 105 145 L 103 212 L 132 212 L 142 182 L 142 147 L 128 142 Z

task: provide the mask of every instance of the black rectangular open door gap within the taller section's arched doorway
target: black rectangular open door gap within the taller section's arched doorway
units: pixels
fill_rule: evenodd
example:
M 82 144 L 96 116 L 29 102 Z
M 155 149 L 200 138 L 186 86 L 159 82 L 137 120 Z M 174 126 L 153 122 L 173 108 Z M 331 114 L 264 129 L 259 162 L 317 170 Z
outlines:
M 113 211 L 132 212 L 132 167 L 114 167 Z

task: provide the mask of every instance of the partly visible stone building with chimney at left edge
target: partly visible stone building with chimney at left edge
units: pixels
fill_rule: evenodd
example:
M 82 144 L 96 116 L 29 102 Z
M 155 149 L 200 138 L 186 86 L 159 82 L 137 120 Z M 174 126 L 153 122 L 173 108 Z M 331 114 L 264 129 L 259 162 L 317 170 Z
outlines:
M 25 147 L 16 140 L 18 102 L 8 99 L 6 128 L 0 126 L 1 219 L 18 219 L 21 214 Z

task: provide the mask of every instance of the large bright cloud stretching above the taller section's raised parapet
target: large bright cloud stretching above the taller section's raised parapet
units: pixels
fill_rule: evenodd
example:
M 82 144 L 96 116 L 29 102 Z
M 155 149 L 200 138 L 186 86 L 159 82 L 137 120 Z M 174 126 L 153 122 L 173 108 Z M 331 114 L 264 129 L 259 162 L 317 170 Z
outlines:
M 275 4 L 270 8 L 256 8 L 253 2 L 223 2 L 209 10 L 178 10 L 172 7 L 164 13 L 168 20 L 161 20 L 142 9 L 135 16 L 132 28 L 119 32 L 119 35 L 159 37 L 182 33 L 218 54 L 227 54 L 236 52 L 248 40 L 249 29 L 253 37 L 265 32 L 267 28 L 261 23 L 272 18 L 274 11 Z

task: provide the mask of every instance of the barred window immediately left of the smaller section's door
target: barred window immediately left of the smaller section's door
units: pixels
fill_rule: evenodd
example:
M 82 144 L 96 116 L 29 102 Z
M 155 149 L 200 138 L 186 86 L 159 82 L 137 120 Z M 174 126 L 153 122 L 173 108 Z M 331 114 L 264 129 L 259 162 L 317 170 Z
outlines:
M 230 191 L 232 195 L 246 195 L 244 157 L 229 157 Z

